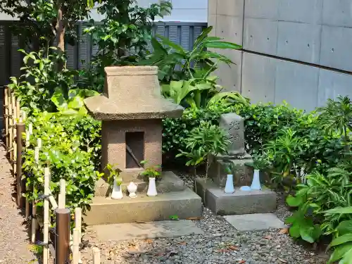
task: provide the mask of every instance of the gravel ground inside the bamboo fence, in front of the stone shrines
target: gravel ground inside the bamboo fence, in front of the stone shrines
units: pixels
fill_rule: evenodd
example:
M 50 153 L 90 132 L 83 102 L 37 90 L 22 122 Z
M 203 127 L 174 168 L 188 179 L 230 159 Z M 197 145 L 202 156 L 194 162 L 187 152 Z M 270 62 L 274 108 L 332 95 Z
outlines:
M 180 174 L 179 174 L 180 175 Z M 185 184 L 193 186 L 193 177 L 180 175 Z M 275 214 L 281 220 L 290 212 L 278 195 Z M 287 230 L 238 232 L 222 216 L 204 208 L 196 225 L 205 234 L 169 239 L 101 242 L 94 234 L 86 234 L 82 250 L 84 263 L 92 263 L 92 247 L 101 249 L 101 264 L 325 264 L 327 256 L 307 244 L 298 244 Z M 116 234 L 118 236 L 118 234 Z

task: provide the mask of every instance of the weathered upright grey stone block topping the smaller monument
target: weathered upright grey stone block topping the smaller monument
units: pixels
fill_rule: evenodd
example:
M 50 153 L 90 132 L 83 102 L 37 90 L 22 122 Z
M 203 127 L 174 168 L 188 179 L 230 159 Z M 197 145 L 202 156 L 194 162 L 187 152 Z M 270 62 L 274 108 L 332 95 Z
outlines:
M 220 116 L 220 127 L 229 134 L 231 144 L 229 146 L 230 155 L 244 154 L 244 118 L 237 113 L 226 113 Z

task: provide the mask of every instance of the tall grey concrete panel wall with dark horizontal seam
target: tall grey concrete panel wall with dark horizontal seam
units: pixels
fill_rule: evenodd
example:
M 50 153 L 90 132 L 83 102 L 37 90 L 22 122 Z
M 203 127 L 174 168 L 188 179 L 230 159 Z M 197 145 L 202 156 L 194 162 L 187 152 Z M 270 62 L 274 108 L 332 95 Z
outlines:
M 208 23 L 242 44 L 222 83 L 253 102 L 313 110 L 352 96 L 352 0 L 209 0 Z M 229 53 L 227 51 L 227 53 Z

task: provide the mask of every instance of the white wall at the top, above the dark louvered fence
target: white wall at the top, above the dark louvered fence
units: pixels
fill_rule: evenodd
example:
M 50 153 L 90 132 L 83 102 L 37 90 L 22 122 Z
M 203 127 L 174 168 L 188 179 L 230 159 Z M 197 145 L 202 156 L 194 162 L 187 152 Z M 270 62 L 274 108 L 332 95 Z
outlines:
M 140 6 L 149 6 L 158 3 L 159 0 L 137 0 Z M 157 18 L 156 21 L 180 21 L 180 22 L 203 22 L 208 19 L 208 0 L 171 0 L 172 13 L 163 19 Z M 91 17 L 94 20 L 101 20 L 101 15 L 92 11 Z M 13 20 L 11 16 L 0 13 L 0 20 Z

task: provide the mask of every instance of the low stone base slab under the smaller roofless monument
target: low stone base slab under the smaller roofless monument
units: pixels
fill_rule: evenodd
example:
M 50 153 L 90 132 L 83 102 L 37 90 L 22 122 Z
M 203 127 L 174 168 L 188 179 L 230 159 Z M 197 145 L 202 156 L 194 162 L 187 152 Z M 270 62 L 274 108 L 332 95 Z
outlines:
M 196 179 L 194 189 L 206 207 L 217 215 L 269 213 L 276 209 L 276 193 L 270 189 L 241 191 L 235 188 L 233 194 L 225 194 L 212 180 L 203 178 Z

